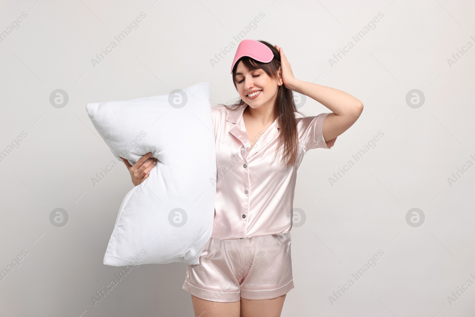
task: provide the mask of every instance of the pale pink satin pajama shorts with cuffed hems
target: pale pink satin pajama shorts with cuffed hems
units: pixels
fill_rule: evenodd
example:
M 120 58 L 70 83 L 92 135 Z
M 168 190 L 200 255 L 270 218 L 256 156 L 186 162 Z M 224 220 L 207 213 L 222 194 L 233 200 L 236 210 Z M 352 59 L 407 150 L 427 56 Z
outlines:
M 215 302 L 269 299 L 294 288 L 290 232 L 237 240 L 209 238 L 182 287 Z

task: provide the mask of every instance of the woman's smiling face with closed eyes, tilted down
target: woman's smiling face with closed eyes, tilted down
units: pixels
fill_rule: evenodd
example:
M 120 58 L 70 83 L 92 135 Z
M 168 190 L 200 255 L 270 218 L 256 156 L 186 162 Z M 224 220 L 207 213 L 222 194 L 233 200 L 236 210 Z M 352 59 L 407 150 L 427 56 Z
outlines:
M 242 61 L 236 67 L 236 86 L 241 99 L 252 108 L 274 106 L 282 81 L 271 78 L 262 68 L 249 70 Z

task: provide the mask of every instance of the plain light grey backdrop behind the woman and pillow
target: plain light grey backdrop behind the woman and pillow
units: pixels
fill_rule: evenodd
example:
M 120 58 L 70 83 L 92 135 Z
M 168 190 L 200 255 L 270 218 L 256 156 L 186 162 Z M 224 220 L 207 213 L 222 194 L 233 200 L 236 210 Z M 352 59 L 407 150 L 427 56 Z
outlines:
M 244 31 L 284 49 L 296 78 L 360 99 L 358 121 L 331 150 L 302 162 L 294 207 L 306 222 L 294 227 L 295 288 L 282 316 L 473 316 L 475 286 L 474 61 L 471 1 L 2 1 L 0 32 L 28 17 L 0 43 L 0 150 L 28 133 L 0 162 L 0 269 L 28 255 L 0 281 L 1 316 L 193 316 L 181 289 L 186 265 L 141 265 L 94 305 L 91 297 L 123 268 L 102 258 L 124 195 L 133 187 L 123 163 L 96 133 L 88 102 L 168 94 L 208 81 L 212 104 L 237 97 L 230 65 L 214 55 Z M 156 2 L 155 2 L 156 1 Z M 100 64 L 91 59 L 141 12 L 146 18 Z M 265 14 L 254 28 L 246 29 Z M 355 36 L 381 12 L 384 17 Z M 248 30 L 248 32 L 246 32 Z M 471 38 L 473 36 L 474 38 Z M 331 66 L 349 41 L 354 47 Z M 117 43 L 117 42 L 116 42 Z M 455 59 L 454 59 L 455 60 Z M 63 89 L 63 108 L 49 96 Z M 425 103 L 410 107 L 419 89 Z M 307 115 L 329 110 L 307 98 Z M 358 162 L 352 155 L 381 131 Z M 470 155 L 474 155 L 471 157 Z M 354 164 L 337 183 L 329 178 Z M 119 163 L 103 181 L 91 178 Z M 342 175 L 342 174 L 341 174 Z M 63 208 L 67 225 L 53 226 Z M 425 221 L 406 221 L 419 208 Z M 361 279 L 352 277 L 378 250 L 384 255 Z M 336 302 L 329 297 L 349 279 Z

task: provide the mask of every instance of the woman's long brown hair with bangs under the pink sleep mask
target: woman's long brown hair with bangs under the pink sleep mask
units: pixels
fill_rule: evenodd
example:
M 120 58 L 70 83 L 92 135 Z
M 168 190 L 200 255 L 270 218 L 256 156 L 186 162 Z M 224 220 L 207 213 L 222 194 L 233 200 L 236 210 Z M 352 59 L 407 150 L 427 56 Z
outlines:
M 254 58 L 244 56 L 239 58 L 233 68 L 233 83 L 234 87 L 237 90 L 236 85 L 236 69 L 237 64 L 242 60 L 244 66 L 249 70 L 262 68 L 266 74 L 276 80 L 279 79 L 278 69 L 280 67 L 280 53 L 279 51 L 270 43 L 259 40 L 259 42 L 266 44 L 274 53 L 274 58 L 268 63 L 262 63 Z M 237 98 L 237 103 L 234 103 L 231 106 L 223 105 L 228 108 L 228 110 L 237 110 L 239 106 L 245 104 L 244 100 L 241 97 Z M 298 136 L 297 136 L 297 123 L 295 121 L 295 112 L 300 113 L 295 107 L 294 95 L 292 90 L 285 87 L 284 84 L 278 87 L 276 106 L 275 111 L 277 115 L 277 120 L 279 123 L 279 141 L 277 143 L 276 154 L 274 155 L 274 160 L 276 159 L 277 152 L 282 152 L 282 147 L 284 147 L 282 161 L 281 163 L 285 166 L 297 163 L 297 150 L 298 150 Z

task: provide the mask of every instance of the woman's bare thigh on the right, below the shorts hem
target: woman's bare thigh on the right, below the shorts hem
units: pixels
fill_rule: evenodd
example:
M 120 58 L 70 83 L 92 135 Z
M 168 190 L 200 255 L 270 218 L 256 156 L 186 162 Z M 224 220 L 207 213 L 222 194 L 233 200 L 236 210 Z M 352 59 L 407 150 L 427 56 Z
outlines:
M 241 298 L 240 317 L 280 317 L 286 295 L 271 299 Z

